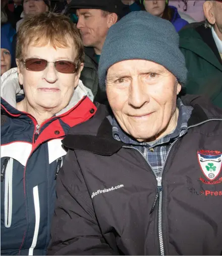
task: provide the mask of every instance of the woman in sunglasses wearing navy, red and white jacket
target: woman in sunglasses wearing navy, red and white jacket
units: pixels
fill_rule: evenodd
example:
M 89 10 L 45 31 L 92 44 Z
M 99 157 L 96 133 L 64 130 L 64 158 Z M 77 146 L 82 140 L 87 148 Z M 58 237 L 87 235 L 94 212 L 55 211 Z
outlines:
M 1 88 L 1 253 L 44 255 L 71 126 L 96 108 L 79 80 L 84 51 L 69 18 L 38 14 L 18 32 Z

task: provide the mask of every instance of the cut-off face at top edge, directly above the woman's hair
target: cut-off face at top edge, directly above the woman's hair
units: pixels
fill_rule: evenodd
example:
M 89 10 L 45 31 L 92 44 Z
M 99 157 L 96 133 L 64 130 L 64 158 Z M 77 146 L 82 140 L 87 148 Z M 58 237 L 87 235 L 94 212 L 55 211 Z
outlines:
M 36 14 L 47 12 L 48 6 L 43 0 L 24 0 L 23 9 L 25 14 Z

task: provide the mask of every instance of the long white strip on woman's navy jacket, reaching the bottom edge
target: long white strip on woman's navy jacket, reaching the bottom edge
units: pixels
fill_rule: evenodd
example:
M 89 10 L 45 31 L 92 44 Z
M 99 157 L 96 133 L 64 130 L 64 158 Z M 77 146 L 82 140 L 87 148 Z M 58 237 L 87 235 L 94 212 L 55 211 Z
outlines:
M 35 207 L 35 230 L 32 239 L 31 247 L 29 248 L 29 255 L 33 255 L 33 250 L 36 246 L 38 239 L 38 231 L 39 231 L 39 223 L 40 223 L 40 206 L 39 206 L 39 194 L 38 194 L 38 186 L 33 188 L 33 200 Z

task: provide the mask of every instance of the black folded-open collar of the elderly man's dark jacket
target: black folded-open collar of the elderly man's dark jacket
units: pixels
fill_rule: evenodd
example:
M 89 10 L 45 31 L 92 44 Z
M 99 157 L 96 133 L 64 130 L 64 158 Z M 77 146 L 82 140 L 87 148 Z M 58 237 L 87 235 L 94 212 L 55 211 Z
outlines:
M 208 119 L 222 119 L 222 110 L 212 107 L 211 103 L 199 96 L 189 95 L 182 97 L 185 105 L 192 106 L 191 117 L 188 120 L 188 126 L 196 125 Z M 211 110 L 208 110 L 211 108 Z M 109 156 L 118 152 L 123 146 L 127 146 L 121 141 L 117 141 L 112 136 L 112 125 L 107 119 L 110 110 L 100 105 L 94 117 L 85 123 L 72 127 L 69 134 L 62 141 L 70 149 L 79 149 L 93 152 L 95 154 Z

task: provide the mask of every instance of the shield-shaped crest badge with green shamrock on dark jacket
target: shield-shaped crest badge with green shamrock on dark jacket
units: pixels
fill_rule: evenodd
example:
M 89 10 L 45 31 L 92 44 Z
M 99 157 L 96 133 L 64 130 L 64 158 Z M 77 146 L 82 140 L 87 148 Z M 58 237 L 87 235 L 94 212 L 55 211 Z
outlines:
M 218 184 L 222 177 L 216 180 L 222 169 L 222 152 L 212 150 L 197 151 L 197 158 L 203 175 L 207 178 L 200 178 L 205 184 Z

